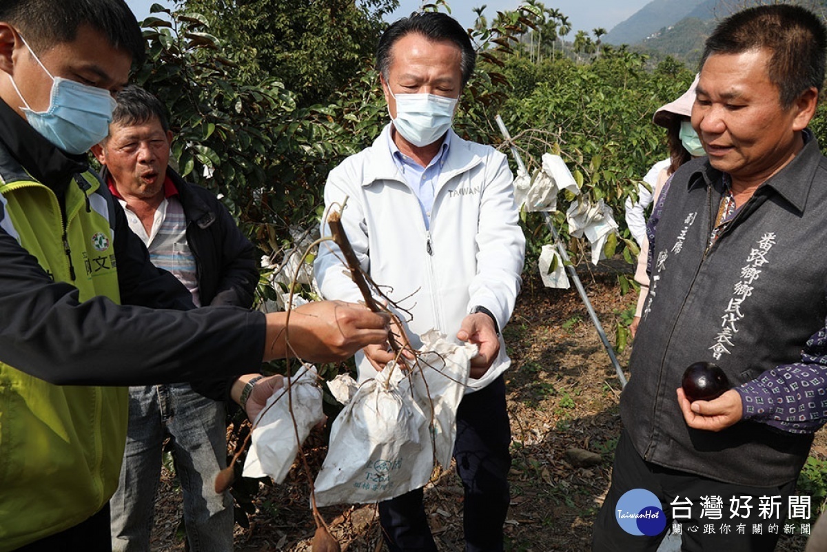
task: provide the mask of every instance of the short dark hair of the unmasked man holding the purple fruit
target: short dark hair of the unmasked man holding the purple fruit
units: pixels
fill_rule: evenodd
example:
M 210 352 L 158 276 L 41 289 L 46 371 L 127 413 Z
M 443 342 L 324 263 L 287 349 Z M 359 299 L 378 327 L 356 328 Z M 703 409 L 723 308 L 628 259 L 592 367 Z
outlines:
M 721 21 L 706 40 L 700 68 L 710 55 L 762 49 L 772 53 L 767 74 L 778 88 L 782 107 L 790 107 L 810 87 L 821 91 L 825 25 L 815 13 L 791 4 L 750 7 Z

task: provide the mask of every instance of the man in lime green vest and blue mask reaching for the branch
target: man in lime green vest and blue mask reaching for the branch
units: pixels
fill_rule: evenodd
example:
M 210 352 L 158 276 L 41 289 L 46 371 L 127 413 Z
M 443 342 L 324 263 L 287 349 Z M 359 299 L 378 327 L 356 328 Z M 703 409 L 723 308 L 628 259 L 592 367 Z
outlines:
M 122 386 L 241 376 L 262 360 L 331 361 L 385 340 L 364 307 L 195 310 L 151 264 L 86 152 L 144 43 L 123 0 L 0 2 L 0 552 L 110 550 L 127 431 Z M 247 375 L 241 375 L 247 374 Z

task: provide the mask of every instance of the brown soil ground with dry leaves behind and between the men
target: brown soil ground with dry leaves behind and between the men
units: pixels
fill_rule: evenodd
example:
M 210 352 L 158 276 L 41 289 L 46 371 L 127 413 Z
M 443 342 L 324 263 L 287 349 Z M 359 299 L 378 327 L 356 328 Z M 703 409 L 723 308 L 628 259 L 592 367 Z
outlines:
M 633 294 L 620 295 L 610 270 L 582 271 L 581 278 L 614 343 L 619 312 L 633 304 Z M 514 363 L 506 373 L 513 433 L 506 550 L 590 550 L 591 525 L 609 486 L 620 431 L 619 380 L 574 288 L 547 289 L 539 278 L 528 278 L 505 336 Z M 629 350 L 618 356 L 625 367 Z M 311 435 L 305 447 L 312 469 L 318 470 L 323 437 Z M 599 454 L 599 464 L 572 464 L 566 455 L 572 449 Z M 821 431 L 813 454 L 823 460 L 825 450 Z M 184 550 L 179 493 L 169 473 L 162 483 L 153 550 Z M 425 497 L 440 550 L 462 550 L 462 493 L 456 474 L 435 476 Z M 254 504 L 249 528 L 236 526 L 236 550 L 310 550 L 315 526 L 308 486 L 297 467 L 284 484 L 262 485 Z M 375 507 L 328 507 L 322 512 L 342 550 L 383 550 Z M 801 536 L 782 535 L 777 550 L 804 550 L 804 544 Z

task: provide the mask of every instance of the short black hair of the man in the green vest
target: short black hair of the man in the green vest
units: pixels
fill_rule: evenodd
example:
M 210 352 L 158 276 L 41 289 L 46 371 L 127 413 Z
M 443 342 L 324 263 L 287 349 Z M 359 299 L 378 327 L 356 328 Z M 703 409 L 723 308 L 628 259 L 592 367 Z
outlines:
M 15 26 L 36 50 L 71 42 L 88 24 L 134 64 L 146 59 L 141 26 L 124 0 L 0 0 L 0 21 Z

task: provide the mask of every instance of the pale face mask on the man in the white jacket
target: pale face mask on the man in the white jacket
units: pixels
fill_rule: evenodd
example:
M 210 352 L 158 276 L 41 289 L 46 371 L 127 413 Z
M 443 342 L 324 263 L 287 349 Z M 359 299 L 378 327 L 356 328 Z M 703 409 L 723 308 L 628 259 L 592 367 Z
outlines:
M 454 118 L 457 98 L 445 98 L 433 94 L 390 95 L 396 100 L 394 127 L 405 140 L 417 147 L 433 144 L 445 134 Z M 390 113 L 390 107 L 389 107 Z

